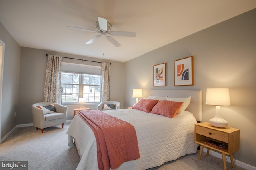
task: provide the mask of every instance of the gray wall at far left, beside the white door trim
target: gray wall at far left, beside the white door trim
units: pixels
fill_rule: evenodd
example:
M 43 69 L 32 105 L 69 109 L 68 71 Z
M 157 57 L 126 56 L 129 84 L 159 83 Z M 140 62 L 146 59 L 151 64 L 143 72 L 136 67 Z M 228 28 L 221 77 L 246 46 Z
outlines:
M 0 23 L 0 39 L 5 43 L 2 81 L 1 139 L 17 125 L 14 112 L 18 106 L 20 45 Z

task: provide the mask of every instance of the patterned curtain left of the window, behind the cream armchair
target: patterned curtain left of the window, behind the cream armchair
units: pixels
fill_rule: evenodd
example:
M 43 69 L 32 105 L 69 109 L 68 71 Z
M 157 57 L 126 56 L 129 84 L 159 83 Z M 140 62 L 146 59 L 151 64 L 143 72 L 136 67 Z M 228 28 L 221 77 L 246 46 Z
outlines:
M 61 104 L 61 56 L 48 55 L 45 82 L 44 102 Z

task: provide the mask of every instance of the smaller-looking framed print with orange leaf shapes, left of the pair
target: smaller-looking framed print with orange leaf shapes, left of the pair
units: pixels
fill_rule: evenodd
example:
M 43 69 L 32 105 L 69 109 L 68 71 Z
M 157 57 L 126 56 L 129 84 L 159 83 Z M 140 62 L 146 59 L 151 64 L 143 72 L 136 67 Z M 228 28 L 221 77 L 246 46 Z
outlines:
M 166 63 L 153 66 L 153 86 L 166 86 Z

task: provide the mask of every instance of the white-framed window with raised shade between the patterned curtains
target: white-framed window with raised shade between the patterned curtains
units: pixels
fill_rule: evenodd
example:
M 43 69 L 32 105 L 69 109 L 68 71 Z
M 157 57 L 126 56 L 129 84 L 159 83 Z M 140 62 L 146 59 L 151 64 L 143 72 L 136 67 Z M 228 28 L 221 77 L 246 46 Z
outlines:
M 86 102 L 100 102 L 100 80 L 102 66 L 61 63 L 62 103 L 78 103 L 78 98 Z

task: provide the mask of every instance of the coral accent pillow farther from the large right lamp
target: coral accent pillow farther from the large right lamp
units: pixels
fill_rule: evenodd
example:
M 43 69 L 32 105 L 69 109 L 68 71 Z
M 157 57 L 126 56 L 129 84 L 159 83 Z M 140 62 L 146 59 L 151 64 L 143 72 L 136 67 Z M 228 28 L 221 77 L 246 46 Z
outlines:
M 136 103 L 132 107 L 132 109 L 141 110 L 149 113 L 158 101 L 159 100 L 155 99 L 140 99 L 140 101 Z

